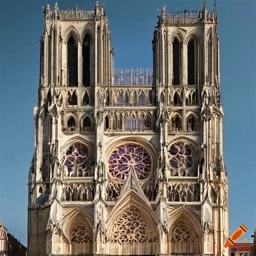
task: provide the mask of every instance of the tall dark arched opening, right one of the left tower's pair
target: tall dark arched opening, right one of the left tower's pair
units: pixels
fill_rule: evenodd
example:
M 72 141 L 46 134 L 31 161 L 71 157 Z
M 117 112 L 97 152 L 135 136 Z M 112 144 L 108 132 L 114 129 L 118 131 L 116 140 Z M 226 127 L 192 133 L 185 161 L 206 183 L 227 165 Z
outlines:
M 90 86 L 90 46 L 91 46 L 91 37 L 85 35 L 82 54 L 83 54 L 83 85 Z

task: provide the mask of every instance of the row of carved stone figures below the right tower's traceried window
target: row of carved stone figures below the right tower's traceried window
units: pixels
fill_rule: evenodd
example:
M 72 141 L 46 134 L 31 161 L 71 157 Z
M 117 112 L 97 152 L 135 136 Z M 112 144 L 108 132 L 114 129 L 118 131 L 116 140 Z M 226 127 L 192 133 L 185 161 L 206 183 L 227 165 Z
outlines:
M 169 201 L 198 202 L 200 201 L 199 184 L 173 184 L 168 187 Z

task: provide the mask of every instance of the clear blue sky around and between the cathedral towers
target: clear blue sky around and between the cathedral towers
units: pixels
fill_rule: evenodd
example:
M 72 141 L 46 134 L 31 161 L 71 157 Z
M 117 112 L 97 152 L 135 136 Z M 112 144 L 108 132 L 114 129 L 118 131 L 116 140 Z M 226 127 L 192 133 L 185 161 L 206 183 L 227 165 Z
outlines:
M 51 6 L 55 1 L 49 0 Z M 212 9 L 213 0 L 207 0 Z M 46 0 L 0 0 L 1 141 L 0 219 L 26 244 L 28 172 L 37 104 L 39 38 Z M 59 8 L 93 9 L 94 0 L 61 0 Z M 203 0 L 101 0 L 116 67 L 151 67 L 156 16 L 167 9 L 199 10 Z M 229 182 L 230 230 L 245 224 L 251 241 L 255 217 L 255 0 L 217 0 L 224 157 Z M 159 11 L 157 11 L 159 9 Z

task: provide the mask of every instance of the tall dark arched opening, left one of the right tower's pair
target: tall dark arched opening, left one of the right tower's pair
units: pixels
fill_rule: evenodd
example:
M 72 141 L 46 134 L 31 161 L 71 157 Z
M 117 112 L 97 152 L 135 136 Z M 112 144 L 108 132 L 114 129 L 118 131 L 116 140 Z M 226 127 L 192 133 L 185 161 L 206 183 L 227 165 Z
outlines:
M 174 38 L 172 43 L 172 59 L 173 59 L 173 85 L 180 84 L 180 43 Z

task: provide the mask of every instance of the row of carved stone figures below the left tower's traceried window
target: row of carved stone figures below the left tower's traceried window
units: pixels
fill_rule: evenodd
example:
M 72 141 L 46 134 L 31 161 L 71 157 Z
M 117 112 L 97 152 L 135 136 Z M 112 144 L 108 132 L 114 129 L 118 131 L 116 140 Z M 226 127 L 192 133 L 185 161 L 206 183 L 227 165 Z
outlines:
M 95 197 L 95 188 L 93 184 L 66 183 L 65 200 L 66 201 L 93 201 Z

